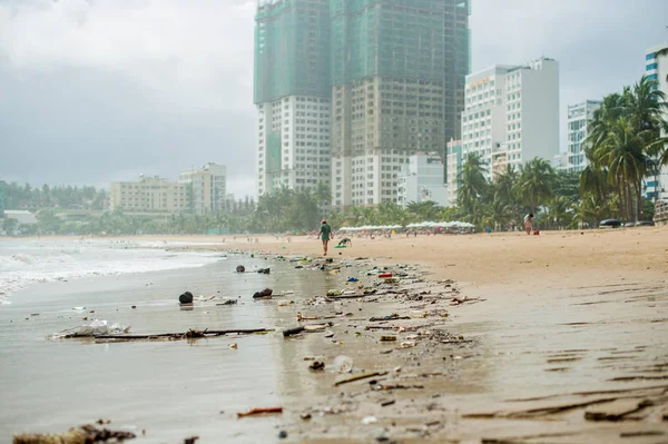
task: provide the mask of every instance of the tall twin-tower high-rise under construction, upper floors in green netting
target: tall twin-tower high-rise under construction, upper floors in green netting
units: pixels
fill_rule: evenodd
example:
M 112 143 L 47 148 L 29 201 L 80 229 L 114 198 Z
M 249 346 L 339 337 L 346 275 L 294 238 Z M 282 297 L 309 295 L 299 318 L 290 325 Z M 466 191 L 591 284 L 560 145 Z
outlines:
M 396 201 L 409 156 L 459 137 L 469 1 L 261 0 L 258 193 L 331 172 L 335 206 Z

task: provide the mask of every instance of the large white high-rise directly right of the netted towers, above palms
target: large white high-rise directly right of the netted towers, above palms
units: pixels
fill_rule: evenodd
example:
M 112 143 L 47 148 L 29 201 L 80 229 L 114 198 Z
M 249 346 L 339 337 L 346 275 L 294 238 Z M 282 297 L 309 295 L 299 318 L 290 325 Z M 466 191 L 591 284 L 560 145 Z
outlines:
M 505 165 L 519 167 L 559 152 L 559 63 L 541 58 L 524 66 L 494 66 L 466 76 L 462 152 L 477 152 L 488 179 Z M 451 189 L 456 194 L 456 189 Z

